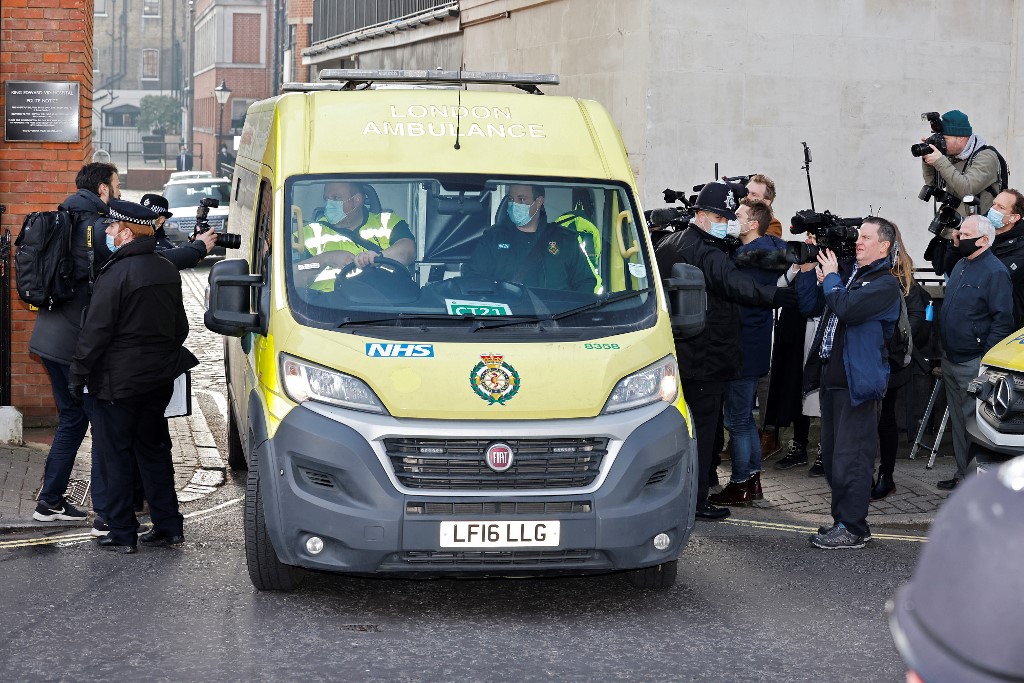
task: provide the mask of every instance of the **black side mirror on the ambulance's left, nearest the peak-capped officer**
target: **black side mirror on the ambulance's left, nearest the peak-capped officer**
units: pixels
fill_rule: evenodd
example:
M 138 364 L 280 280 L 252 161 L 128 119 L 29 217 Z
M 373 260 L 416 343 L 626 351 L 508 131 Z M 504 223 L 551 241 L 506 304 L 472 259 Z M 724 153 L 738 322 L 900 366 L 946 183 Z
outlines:
M 249 263 L 243 258 L 231 258 L 214 263 L 210 268 L 210 299 L 203 322 L 219 335 L 241 337 L 247 332 L 259 332 L 265 316 L 253 313 L 250 305 L 253 288 L 261 288 L 263 279 L 249 272 Z M 262 298 L 262 297 L 260 297 Z

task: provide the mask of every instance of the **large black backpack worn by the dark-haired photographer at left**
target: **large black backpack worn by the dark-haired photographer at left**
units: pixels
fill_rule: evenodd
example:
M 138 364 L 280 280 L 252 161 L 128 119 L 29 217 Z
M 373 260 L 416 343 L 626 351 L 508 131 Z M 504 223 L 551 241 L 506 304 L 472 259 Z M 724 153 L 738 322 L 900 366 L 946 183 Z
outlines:
M 72 212 L 36 211 L 26 216 L 14 241 L 15 281 L 22 300 L 52 309 L 75 295 L 75 258 L 72 254 Z M 89 287 L 92 287 L 92 226 L 87 236 Z

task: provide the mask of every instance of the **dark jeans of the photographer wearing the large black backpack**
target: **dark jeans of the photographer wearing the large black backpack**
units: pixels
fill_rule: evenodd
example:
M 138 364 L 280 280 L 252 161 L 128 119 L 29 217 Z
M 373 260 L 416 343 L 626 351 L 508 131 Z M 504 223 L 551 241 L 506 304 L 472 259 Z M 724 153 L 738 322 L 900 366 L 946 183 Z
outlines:
M 39 500 L 47 505 L 59 505 L 68 481 L 71 479 L 75 458 L 82 446 L 85 431 L 89 428 L 92 416 L 93 400 L 88 394 L 82 404 L 76 403 L 68 391 L 68 378 L 71 366 L 42 358 L 43 367 L 50 376 L 50 386 L 53 388 L 53 402 L 56 403 L 60 417 L 53 433 L 53 443 L 46 456 L 46 466 L 43 470 L 43 487 L 39 492 Z M 96 443 L 92 444 L 92 509 L 102 516 L 106 503 L 106 486 L 99 471 L 96 458 Z

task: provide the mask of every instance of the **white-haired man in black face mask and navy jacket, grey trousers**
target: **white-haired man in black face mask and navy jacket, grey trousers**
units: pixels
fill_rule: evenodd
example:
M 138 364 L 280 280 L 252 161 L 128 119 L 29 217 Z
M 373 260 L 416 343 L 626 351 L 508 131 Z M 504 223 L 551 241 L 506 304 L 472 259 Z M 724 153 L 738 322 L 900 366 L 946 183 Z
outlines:
M 939 482 L 951 490 L 967 476 L 967 421 L 975 410 L 968 384 L 978 376 L 981 356 L 1014 331 L 1014 290 L 1010 271 L 992 253 L 995 226 L 970 216 L 952 234 L 961 259 L 949 272 L 939 317 L 942 381 L 949 407 L 956 474 Z

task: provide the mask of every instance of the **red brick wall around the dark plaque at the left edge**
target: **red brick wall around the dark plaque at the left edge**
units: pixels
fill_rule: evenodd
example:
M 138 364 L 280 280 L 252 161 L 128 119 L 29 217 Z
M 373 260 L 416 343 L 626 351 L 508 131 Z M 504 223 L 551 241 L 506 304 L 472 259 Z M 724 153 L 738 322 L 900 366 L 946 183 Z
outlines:
M 78 142 L 5 142 L 0 145 L 0 229 L 16 236 L 22 219 L 49 210 L 75 191 L 75 175 L 92 146 L 92 0 L 2 0 L 0 82 L 80 83 Z M 0 89 L 0 108 L 4 90 Z M 49 378 L 29 353 L 36 314 L 11 282 L 11 402 L 27 425 L 56 416 Z

